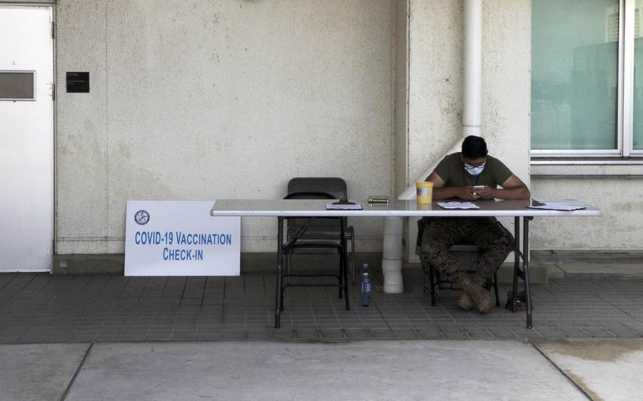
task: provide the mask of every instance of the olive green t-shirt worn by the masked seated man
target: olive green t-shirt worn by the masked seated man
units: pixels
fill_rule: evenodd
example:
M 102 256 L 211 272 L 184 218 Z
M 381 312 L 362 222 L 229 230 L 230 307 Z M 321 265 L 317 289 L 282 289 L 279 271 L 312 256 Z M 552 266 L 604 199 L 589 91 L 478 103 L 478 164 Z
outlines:
M 444 186 L 488 185 L 492 188 L 502 185 L 512 176 L 511 170 L 495 157 L 487 156 L 485 169 L 477 176 L 464 171 L 461 152 L 452 153 L 435 167 L 435 173 L 444 181 Z

